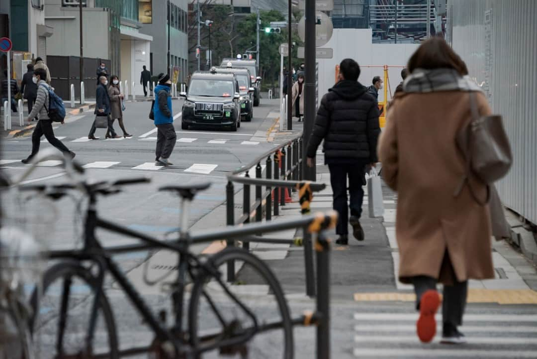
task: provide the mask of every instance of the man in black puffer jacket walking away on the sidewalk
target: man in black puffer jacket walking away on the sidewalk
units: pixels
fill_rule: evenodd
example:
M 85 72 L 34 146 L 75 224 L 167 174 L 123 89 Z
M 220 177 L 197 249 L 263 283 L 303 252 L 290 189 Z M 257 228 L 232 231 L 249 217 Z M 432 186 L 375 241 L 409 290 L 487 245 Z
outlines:
M 367 165 L 375 166 L 376 142 L 379 138 L 379 108 L 358 82 L 360 66 L 352 59 L 339 65 L 338 83 L 324 95 L 317 112 L 313 133 L 308 143 L 308 166 L 313 166 L 317 147 L 324 139 L 324 162 L 330 169 L 333 209 L 339 213 L 336 243 L 347 245 L 347 224 L 353 235 L 364 240 L 360 226 L 364 190 L 362 181 Z M 347 176 L 351 195 L 351 218 L 347 212 Z

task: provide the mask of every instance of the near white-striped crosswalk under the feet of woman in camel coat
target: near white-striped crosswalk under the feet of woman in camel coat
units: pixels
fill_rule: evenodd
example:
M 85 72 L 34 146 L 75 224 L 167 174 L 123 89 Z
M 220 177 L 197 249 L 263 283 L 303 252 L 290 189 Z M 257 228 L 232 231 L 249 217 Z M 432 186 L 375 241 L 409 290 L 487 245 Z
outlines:
M 354 313 L 355 357 L 360 358 L 537 358 L 537 315 L 528 313 L 468 313 L 460 331 L 468 343 L 440 344 L 441 315 L 431 343 L 416 335 L 418 313 Z

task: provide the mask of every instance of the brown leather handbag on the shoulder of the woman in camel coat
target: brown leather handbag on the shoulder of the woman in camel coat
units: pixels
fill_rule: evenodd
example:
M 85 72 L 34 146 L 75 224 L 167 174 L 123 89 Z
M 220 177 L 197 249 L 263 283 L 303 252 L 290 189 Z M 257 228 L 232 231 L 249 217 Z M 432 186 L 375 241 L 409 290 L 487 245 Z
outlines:
M 502 116 L 480 116 L 474 92 L 469 92 L 470 112 L 472 120 L 459 131 L 457 145 L 466 159 L 466 174 L 455 190 L 458 196 L 465 183 L 470 187 L 474 199 L 484 205 L 489 202 L 490 188 L 488 185 L 504 177 L 513 162 L 511 145 L 502 123 Z M 487 198 L 484 201 L 475 196 L 468 179 L 477 177 L 487 184 Z

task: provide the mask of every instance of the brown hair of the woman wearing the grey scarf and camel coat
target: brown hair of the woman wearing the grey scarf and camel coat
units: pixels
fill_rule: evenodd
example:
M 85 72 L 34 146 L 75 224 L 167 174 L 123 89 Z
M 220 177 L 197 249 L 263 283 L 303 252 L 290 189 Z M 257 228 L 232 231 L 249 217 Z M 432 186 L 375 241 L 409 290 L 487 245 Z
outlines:
M 417 68 L 427 70 L 449 68 L 456 70 L 461 76 L 468 75 L 465 62 L 453 51 L 446 40 L 440 37 L 433 37 L 423 42 L 410 56 L 407 67 L 410 73 Z

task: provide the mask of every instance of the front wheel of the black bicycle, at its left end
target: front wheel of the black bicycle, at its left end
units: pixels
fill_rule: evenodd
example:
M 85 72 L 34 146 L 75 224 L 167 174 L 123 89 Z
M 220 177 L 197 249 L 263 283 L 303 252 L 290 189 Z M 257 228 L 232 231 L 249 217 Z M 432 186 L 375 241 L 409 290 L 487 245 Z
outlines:
M 31 297 L 30 322 L 40 359 L 119 358 L 110 303 L 104 293 L 95 295 L 99 283 L 89 269 L 78 262 L 57 263 L 42 282 L 41 293 L 36 288 Z

